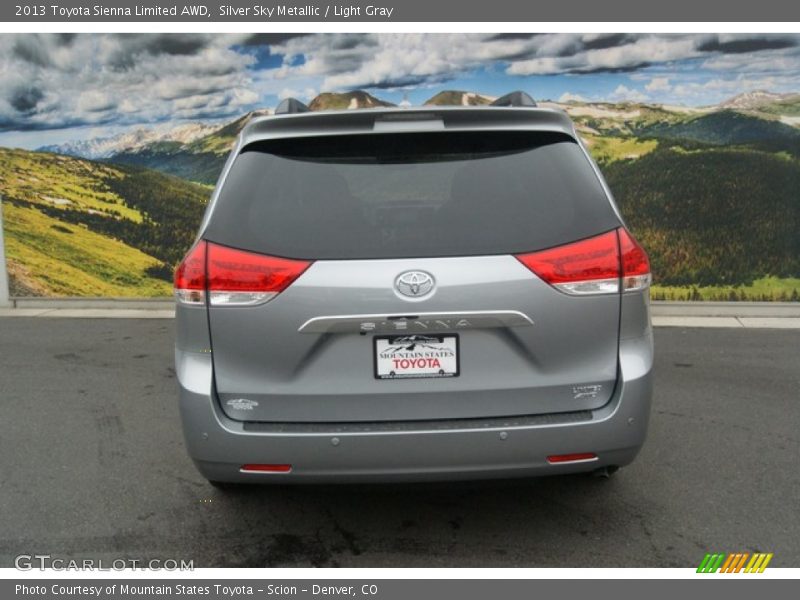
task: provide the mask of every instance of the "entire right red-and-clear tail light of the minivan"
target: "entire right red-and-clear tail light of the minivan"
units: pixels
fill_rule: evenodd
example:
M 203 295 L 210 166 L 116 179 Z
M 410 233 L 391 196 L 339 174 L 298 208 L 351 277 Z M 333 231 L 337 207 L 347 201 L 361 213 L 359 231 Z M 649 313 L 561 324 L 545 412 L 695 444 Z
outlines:
M 650 285 L 647 254 L 624 228 L 517 259 L 556 289 L 572 295 L 613 294 Z

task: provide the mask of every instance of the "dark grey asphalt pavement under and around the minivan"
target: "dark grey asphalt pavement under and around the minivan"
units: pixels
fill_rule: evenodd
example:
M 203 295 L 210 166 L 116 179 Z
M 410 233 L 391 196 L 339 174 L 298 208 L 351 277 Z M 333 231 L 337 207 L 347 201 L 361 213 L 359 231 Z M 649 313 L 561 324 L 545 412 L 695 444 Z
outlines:
M 656 329 L 647 444 L 609 480 L 210 487 L 169 319 L 0 319 L 0 567 L 800 566 L 800 331 Z

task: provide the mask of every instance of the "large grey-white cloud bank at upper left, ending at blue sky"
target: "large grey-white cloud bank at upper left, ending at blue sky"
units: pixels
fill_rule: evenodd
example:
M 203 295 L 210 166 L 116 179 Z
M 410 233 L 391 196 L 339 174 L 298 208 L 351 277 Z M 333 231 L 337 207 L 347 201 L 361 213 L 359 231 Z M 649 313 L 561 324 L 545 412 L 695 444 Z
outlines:
M 0 36 L 0 127 L 235 114 L 253 57 L 220 35 Z M 5 123 L 4 123 L 5 122 Z

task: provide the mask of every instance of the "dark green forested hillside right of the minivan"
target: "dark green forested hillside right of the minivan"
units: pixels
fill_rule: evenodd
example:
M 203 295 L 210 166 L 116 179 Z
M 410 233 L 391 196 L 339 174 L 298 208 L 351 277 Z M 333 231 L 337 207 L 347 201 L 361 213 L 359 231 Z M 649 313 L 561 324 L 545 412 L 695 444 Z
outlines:
M 751 149 L 660 145 L 604 168 L 662 285 L 800 276 L 800 161 Z

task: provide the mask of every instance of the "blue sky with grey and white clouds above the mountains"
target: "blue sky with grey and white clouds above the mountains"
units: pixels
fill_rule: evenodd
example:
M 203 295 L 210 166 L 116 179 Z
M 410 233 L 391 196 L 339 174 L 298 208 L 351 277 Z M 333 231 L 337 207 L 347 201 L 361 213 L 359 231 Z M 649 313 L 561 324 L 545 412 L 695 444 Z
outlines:
M 0 145 L 230 119 L 286 96 L 442 89 L 702 106 L 800 92 L 800 35 L 0 34 Z

